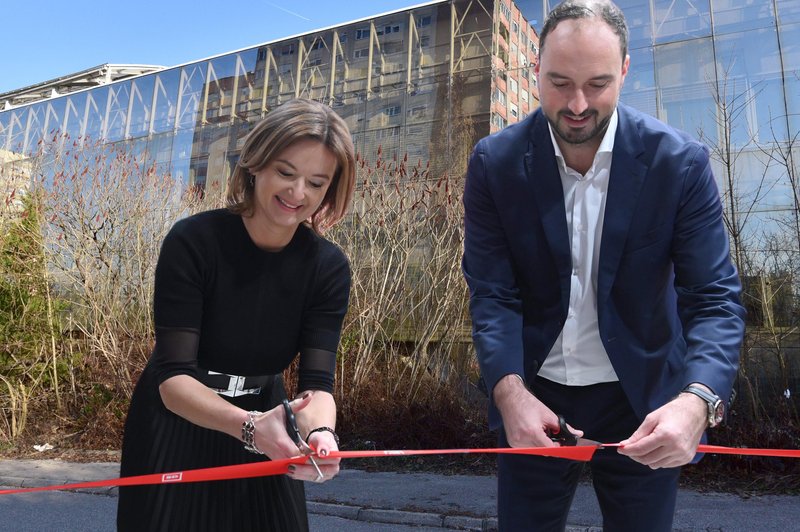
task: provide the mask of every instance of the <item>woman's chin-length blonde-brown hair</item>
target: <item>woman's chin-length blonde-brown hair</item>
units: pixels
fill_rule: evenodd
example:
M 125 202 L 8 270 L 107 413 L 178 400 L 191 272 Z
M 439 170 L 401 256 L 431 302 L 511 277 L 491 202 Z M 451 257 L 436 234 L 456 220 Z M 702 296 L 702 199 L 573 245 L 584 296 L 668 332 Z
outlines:
M 322 233 L 341 220 L 355 187 L 355 149 L 350 130 L 330 107 L 297 98 L 276 107 L 248 133 L 239 162 L 228 181 L 226 203 L 230 211 L 253 212 L 253 174 L 265 168 L 279 153 L 303 139 L 321 142 L 336 157 L 336 173 L 325 198 L 311 215 L 311 227 Z

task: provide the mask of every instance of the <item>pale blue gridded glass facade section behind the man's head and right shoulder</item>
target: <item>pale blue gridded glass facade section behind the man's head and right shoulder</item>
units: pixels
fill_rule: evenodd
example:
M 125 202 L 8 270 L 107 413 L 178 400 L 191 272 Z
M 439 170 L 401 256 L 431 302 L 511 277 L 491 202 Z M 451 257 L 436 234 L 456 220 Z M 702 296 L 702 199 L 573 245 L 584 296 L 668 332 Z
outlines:
M 517 0 L 537 30 L 557 3 Z M 631 63 L 621 101 L 710 146 L 726 209 L 747 213 L 745 230 L 760 232 L 795 211 L 800 2 L 616 4 L 630 31 Z

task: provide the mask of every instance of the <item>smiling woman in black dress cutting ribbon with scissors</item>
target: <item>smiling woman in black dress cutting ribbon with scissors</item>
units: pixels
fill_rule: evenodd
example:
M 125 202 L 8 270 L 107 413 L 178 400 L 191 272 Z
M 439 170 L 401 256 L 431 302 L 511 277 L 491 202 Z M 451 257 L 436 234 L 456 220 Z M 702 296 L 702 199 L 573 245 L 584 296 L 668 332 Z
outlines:
M 281 373 L 300 356 L 290 406 L 313 465 L 286 476 L 121 488 L 119 530 L 308 528 L 300 481 L 339 471 L 331 392 L 350 290 L 320 232 L 355 183 L 350 132 L 329 108 L 291 100 L 245 139 L 227 209 L 175 224 L 156 267 L 156 344 L 131 400 L 122 476 L 298 456 Z M 307 448 L 306 448 L 307 450 Z

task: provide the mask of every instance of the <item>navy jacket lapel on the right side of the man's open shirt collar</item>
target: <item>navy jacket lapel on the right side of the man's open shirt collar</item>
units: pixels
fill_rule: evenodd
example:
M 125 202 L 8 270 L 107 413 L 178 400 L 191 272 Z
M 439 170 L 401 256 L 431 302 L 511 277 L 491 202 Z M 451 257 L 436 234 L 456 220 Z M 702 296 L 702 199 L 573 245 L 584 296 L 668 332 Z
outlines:
M 617 273 L 625 240 L 644 183 L 647 166 L 638 156 L 644 151 L 639 130 L 629 112 L 618 106 L 619 126 L 614 139 L 614 155 L 606 197 L 603 235 L 597 274 L 598 302 L 605 301 Z

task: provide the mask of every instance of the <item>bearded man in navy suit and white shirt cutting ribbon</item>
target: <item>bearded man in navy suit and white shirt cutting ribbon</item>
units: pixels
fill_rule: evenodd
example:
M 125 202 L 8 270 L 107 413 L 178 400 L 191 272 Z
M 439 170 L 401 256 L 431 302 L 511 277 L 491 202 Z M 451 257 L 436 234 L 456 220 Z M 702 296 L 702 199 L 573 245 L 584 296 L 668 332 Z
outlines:
M 670 530 L 679 466 L 731 394 L 740 284 L 708 150 L 618 103 L 627 26 L 568 0 L 540 37 L 541 109 L 470 158 L 463 269 L 500 445 L 577 435 L 604 530 Z M 569 460 L 498 457 L 501 530 L 561 530 Z

